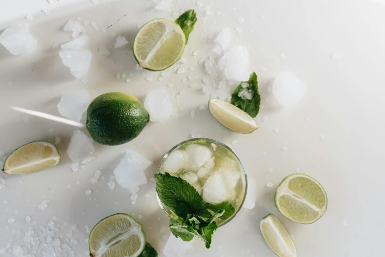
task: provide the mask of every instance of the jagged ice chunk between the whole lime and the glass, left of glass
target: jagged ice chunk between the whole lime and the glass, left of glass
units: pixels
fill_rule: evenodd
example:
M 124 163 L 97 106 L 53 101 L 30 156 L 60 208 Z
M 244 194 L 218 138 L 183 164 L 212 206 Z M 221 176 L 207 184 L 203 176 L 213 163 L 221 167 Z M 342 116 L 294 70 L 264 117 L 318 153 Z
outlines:
M 144 170 L 152 164 L 141 154 L 126 150 L 126 155 L 114 170 L 116 181 L 122 188 L 135 189 L 147 183 Z

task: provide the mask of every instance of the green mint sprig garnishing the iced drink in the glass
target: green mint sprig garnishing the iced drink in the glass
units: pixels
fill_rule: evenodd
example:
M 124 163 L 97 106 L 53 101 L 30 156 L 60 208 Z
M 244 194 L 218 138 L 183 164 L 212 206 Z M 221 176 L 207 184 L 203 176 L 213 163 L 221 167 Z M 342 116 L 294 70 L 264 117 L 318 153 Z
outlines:
M 234 207 L 229 202 L 206 203 L 188 182 L 168 173 L 155 174 L 155 180 L 159 199 L 173 210 L 171 232 L 183 241 L 198 237 L 205 242 L 206 248 L 210 248 L 212 234 L 218 228 L 215 220 L 231 217 Z

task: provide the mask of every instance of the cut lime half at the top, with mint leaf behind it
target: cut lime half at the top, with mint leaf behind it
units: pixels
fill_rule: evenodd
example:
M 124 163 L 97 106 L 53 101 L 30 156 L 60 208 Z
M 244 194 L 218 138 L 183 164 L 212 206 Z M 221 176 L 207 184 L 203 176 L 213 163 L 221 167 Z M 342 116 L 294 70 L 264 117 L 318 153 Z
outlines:
M 136 34 L 133 44 L 138 64 L 148 70 L 163 70 L 183 54 L 186 37 L 178 24 L 158 18 L 149 21 Z

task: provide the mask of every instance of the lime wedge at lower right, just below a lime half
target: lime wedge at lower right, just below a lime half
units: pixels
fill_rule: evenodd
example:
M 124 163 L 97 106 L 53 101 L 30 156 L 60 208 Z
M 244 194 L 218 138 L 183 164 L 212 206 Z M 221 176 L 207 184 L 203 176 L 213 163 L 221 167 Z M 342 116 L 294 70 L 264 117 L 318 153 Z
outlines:
M 285 227 L 272 214 L 263 218 L 259 224 L 267 245 L 279 257 L 296 257 L 296 246 Z

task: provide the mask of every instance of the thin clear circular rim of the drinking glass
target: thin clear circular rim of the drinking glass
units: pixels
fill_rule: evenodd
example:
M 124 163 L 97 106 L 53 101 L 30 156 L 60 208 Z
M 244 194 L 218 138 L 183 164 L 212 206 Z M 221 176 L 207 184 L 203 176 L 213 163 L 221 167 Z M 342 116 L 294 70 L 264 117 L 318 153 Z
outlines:
M 172 153 L 174 150 L 176 150 L 179 146 L 181 145 L 184 145 L 186 143 L 189 143 L 189 142 L 192 142 L 192 141 L 198 141 L 198 140 L 205 140 L 205 141 L 208 141 L 208 142 L 212 142 L 212 143 L 216 143 L 218 145 L 221 145 L 223 146 L 224 148 L 226 148 L 227 150 L 229 150 L 237 159 L 237 161 L 239 162 L 242 170 L 243 170 L 243 175 L 244 175 L 244 180 L 245 180 L 245 192 L 243 194 L 243 198 L 242 198 L 242 202 L 240 203 L 238 209 L 234 212 L 234 214 L 227 220 L 225 220 L 223 223 L 219 224 L 218 227 L 220 226 L 223 226 L 223 225 L 226 225 L 227 223 L 229 223 L 231 220 L 234 219 L 234 217 L 236 217 L 237 213 L 240 211 L 240 209 L 242 208 L 243 206 L 243 203 L 246 199 L 246 195 L 247 195 L 247 174 L 246 174 L 246 169 L 245 167 L 243 166 L 243 163 L 242 161 L 240 161 L 239 157 L 237 156 L 236 153 L 234 153 L 234 151 L 228 147 L 226 144 L 220 142 L 220 141 L 217 141 L 215 139 L 210 139 L 210 138 L 204 138 L 204 137 L 198 137 L 198 138 L 191 138 L 191 139 L 187 139 L 185 141 L 182 141 L 180 143 L 178 143 L 176 146 L 174 146 L 173 148 L 171 148 L 162 158 L 162 160 L 159 162 L 159 165 L 158 165 L 158 168 L 156 170 L 156 174 L 159 173 L 160 171 L 160 167 L 162 166 L 163 162 L 166 160 L 166 158 L 168 157 L 168 155 L 170 153 Z M 156 199 L 158 200 L 158 203 L 159 203 L 159 206 L 160 208 L 163 210 L 163 212 L 170 218 L 170 215 L 167 213 L 167 211 L 165 210 L 165 208 L 163 207 L 163 203 L 162 201 L 159 199 L 158 197 L 158 193 L 156 192 L 156 180 L 155 180 L 155 193 L 156 193 Z

